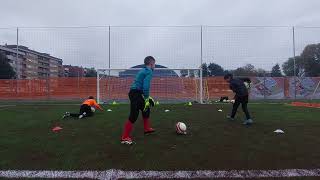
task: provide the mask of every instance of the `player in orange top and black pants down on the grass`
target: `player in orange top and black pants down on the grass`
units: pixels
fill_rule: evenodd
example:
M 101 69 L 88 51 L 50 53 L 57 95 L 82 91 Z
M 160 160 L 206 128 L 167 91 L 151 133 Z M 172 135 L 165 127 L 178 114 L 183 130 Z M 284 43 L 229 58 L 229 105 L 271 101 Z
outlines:
M 100 109 L 103 111 L 101 106 L 97 104 L 96 100 L 94 100 L 93 96 L 89 96 L 88 99 L 86 99 L 82 105 L 80 106 L 80 112 L 79 113 L 70 113 L 66 112 L 62 118 L 66 117 L 78 117 L 79 119 L 84 118 L 84 117 L 90 117 L 93 116 L 95 108 Z

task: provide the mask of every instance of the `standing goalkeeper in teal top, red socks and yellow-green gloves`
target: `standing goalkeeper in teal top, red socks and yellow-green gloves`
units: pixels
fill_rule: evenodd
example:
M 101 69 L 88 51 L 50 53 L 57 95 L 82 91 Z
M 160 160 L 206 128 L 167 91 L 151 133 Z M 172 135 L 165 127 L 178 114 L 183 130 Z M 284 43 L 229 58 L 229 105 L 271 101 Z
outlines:
M 139 111 L 142 111 L 144 133 L 150 134 L 155 132 L 155 130 L 150 127 L 149 119 L 150 107 L 154 106 L 154 100 L 152 97 L 150 97 L 149 93 L 155 62 L 156 60 L 154 57 L 147 56 L 144 59 L 145 67 L 138 72 L 134 82 L 131 85 L 129 91 L 130 115 L 124 125 L 124 130 L 121 137 L 122 144 L 131 145 L 133 143 L 131 132 L 133 129 L 133 124 L 138 119 Z

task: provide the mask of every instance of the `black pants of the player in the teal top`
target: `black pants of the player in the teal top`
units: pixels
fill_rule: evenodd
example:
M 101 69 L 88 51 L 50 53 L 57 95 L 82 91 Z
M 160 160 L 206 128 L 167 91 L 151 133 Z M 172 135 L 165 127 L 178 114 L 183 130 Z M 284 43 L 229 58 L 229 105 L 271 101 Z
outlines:
M 150 108 L 146 111 L 144 109 L 144 98 L 142 96 L 143 92 L 141 90 L 130 90 L 129 99 L 130 99 L 130 115 L 129 120 L 134 123 L 137 121 L 139 116 L 139 111 L 142 111 L 143 118 L 149 118 L 150 116 Z

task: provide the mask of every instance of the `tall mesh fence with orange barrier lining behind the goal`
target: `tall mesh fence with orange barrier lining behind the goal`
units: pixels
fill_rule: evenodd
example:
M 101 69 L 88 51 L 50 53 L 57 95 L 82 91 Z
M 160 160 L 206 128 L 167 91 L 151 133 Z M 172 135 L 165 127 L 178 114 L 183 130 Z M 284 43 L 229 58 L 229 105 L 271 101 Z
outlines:
M 285 26 L 0 28 L 0 53 L 11 67 L 1 64 L 0 99 L 69 100 L 96 95 L 98 69 L 141 67 L 148 55 L 161 68 L 179 69 L 176 77 L 164 75 L 166 81 L 201 79 L 195 91 L 188 90 L 198 93 L 197 100 L 232 96 L 222 78 L 226 73 L 250 77 L 252 99 L 320 99 L 319 34 L 320 27 Z M 198 76 L 181 73 L 199 68 Z M 124 82 L 119 75 L 108 76 L 115 85 Z M 99 88 L 109 88 L 105 86 Z M 179 89 L 172 91 L 179 97 Z M 110 92 L 100 93 L 116 100 Z

